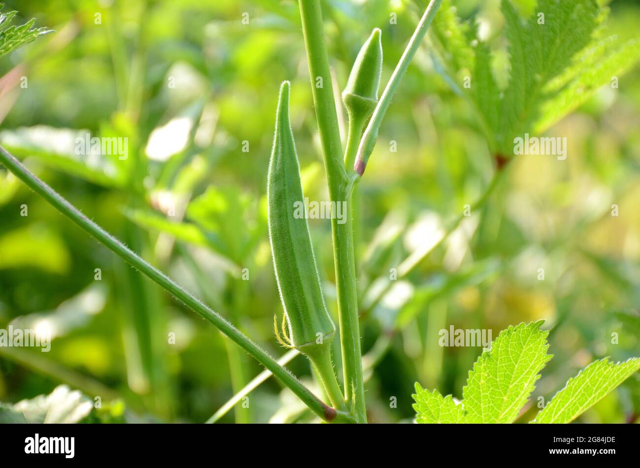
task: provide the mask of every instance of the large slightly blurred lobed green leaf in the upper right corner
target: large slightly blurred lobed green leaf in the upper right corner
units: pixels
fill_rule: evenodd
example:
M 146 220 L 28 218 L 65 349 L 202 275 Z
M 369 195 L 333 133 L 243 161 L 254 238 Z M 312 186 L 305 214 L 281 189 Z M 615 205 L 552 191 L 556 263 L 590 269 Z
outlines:
M 468 98 L 490 148 L 504 156 L 513 154 L 515 137 L 541 134 L 640 60 L 637 41 L 620 45 L 603 37 L 609 10 L 595 0 L 502 0 L 502 13 L 510 60 L 504 90 L 493 76 L 489 45 L 474 24 L 456 17 L 451 1 L 431 31 L 436 71 Z

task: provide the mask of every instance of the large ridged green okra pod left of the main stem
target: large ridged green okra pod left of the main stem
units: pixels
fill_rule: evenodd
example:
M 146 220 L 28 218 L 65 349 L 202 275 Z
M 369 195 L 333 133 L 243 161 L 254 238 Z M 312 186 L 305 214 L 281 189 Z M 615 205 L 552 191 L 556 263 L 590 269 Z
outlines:
M 282 83 L 267 183 L 269 240 L 289 341 L 310 358 L 326 354 L 335 334 L 320 285 L 303 203 L 300 165 L 289 122 L 289 82 Z

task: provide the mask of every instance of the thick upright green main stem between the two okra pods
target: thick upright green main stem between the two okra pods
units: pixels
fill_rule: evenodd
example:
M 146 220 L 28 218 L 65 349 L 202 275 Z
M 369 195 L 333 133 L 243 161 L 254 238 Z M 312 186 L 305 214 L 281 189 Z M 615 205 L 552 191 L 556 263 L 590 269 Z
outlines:
M 351 191 L 342 162 L 342 144 L 329 61 L 324 42 L 323 20 L 319 0 L 300 0 L 302 30 L 307 49 L 314 105 L 320 139 L 323 147 L 329 194 L 332 201 L 347 205 L 346 222 L 339 224 L 332 218 L 333 260 L 338 295 L 340 322 L 340 346 L 342 348 L 342 370 L 347 406 L 358 423 L 367 422 L 362 377 L 362 351 L 360 349 L 360 324 L 358 323 L 358 296 L 356 293 L 355 256 L 353 253 L 353 229 L 351 226 Z

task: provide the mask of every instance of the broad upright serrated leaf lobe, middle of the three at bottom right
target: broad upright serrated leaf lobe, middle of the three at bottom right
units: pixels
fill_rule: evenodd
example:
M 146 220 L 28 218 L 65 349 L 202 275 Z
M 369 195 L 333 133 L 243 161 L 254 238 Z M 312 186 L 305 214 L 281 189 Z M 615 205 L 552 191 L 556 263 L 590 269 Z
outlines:
M 520 324 L 500 332 L 491 351 L 476 361 L 462 391 L 469 423 L 513 423 L 518 417 L 552 358 L 542 324 Z

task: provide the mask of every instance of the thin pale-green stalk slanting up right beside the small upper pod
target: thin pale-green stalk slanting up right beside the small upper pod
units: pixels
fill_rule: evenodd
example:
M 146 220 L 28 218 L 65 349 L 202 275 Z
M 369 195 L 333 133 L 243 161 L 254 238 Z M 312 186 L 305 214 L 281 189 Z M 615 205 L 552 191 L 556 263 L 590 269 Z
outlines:
M 402 80 L 406 69 L 411 63 L 415 52 L 417 52 L 418 47 L 420 47 L 420 42 L 422 42 L 429 26 L 431 26 L 431 21 L 433 21 L 433 17 L 435 17 L 441 3 L 442 0 L 431 0 L 429 2 L 427 9 L 424 11 L 424 15 L 422 15 L 418 26 L 413 32 L 411 40 L 406 46 L 406 49 L 404 49 L 404 53 L 396 66 L 396 70 L 394 70 L 393 75 L 391 75 L 391 78 L 387 83 L 387 87 L 382 93 L 380 101 L 378 101 L 378 105 L 376 105 L 376 110 L 373 112 L 369 125 L 367 125 L 367 130 L 365 130 L 362 141 L 360 142 L 358 157 L 356 159 L 355 166 L 353 166 L 353 170 L 355 170 L 360 176 L 364 173 L 364 169 L 367 166 L 367 160 L 369 160 L 369 156 L 371 156 L 373 148 L 376 146 L 378 131 L 380 130 L 382 120 L 387 113 L 387 109 L 391 104 L 391 100 L 400 85 L 400 81 Z

